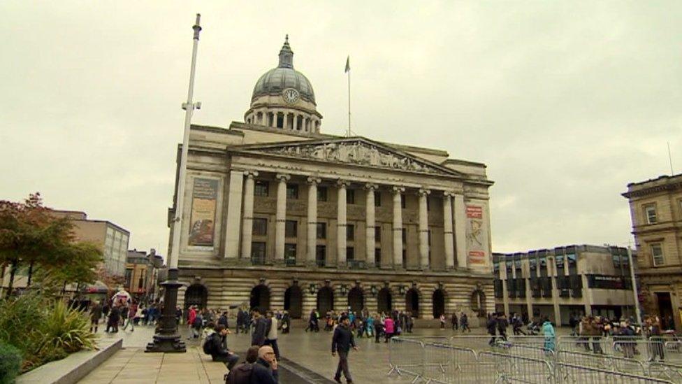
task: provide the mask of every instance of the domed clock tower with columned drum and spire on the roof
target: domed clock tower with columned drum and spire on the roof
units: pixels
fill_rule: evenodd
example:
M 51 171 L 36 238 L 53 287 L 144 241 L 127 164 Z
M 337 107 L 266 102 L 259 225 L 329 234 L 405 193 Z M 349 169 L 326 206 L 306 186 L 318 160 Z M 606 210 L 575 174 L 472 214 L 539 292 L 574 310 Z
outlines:
M 321 119 L 310 80 L 293 69 L 293 51 L 286 35 L 280 62 L 256 82 L 244 120 L 250 125 L 313 134 L 319 133 Z

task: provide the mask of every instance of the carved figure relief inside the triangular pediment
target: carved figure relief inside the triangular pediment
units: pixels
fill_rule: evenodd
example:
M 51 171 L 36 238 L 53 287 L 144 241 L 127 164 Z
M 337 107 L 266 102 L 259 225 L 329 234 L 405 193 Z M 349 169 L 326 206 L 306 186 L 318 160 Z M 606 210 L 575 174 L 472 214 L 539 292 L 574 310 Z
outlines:
M 411 157 L 402 156 L 398 153 L 389 152 L 377 145 L 363 141 L 343 141 L 339 143 L 321 143 L 310 145 L 286 145 L 277 148 L 264 148 L 260 152 L 277 155 L 319 159 L 328 162 L 341 162 L 366 166 L 378 166 L 382 168 L 402 169 L 424 173 L 445 172 L 430 166 L 425 162 L 419 162 Z

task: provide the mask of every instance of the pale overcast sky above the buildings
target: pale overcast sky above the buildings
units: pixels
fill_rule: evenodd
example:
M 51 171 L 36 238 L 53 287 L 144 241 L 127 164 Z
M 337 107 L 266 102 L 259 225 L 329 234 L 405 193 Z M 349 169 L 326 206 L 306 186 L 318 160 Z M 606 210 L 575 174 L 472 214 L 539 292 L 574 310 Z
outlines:
M 255 4 L 257 3 L 257 4 Z M 627 183 L 682 171 L 681 1 L 0 2 L 0 199 L 40 191 L 166 255 L 193 122 L 242 121 L 284 34 L 321 131 L 488 166 L 493 250 L 627 245 Z

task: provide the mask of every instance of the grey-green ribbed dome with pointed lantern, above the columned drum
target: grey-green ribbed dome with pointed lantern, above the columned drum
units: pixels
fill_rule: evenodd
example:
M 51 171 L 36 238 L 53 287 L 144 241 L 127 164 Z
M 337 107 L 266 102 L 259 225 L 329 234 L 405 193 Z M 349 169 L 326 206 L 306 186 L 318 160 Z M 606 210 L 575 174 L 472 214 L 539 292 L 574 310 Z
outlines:
M 289 35 L 284 39 L 284 45 L 280 50 L 280 64 L 258 79 L 251 100 L 254 101 L 256 97 L 261 96 L 282 94 L 286 88 L 297 90 L 301 99 L 315 104 L 315 93 L 310 80 L 303 76 L 303 73 L 293 69 L 293 51 L 289 46 Z

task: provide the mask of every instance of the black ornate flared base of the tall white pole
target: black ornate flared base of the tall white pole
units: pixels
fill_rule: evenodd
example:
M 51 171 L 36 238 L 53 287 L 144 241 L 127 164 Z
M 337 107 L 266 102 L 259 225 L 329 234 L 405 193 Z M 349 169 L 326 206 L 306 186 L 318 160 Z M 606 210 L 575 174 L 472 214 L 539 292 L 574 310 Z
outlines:
M 161 314 L 161 322 L 154 334 L 154 341 L 147 344 L 145 352 L 187 352 L 184 341 L 180 340 L 177 332 L 177 320 L 175 319 L 175 306 L 177 305 L 177 288 L 182 283 L 177 280 L 177 269 L 168 269 L 168 280 L 161 283 L 164 286 L 164 311 Z

